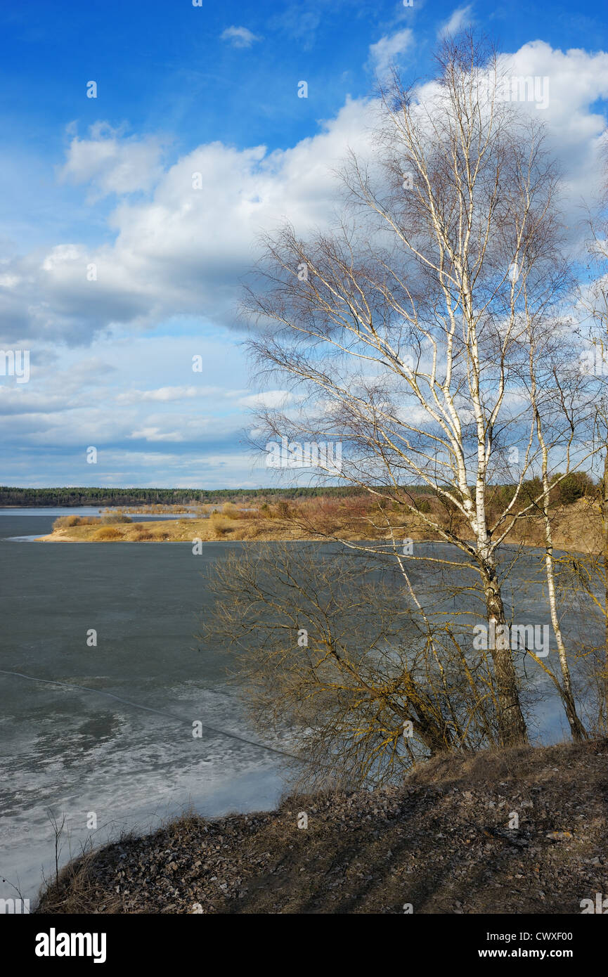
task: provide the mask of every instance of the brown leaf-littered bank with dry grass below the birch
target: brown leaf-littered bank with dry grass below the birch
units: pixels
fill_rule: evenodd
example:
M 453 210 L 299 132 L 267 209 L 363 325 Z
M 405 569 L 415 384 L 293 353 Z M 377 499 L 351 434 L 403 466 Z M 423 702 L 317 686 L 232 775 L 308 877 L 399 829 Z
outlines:
M 446 757 L 403 786 L 122 838 L 38 912 L 581 913 L 608 896 L 607 801 L 606 740 Z

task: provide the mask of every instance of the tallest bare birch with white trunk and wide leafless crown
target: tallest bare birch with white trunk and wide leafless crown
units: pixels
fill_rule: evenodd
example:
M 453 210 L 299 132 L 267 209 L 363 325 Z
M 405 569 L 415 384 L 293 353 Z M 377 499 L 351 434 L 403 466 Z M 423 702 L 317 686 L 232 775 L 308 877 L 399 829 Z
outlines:
M 503 634 L 499 547 L 546 497 L 523 486 L 536 465 L 549 477 L 548 454 L 563 441 L 556 432 L 548 443 L 522 380 L 529 322 L 555 311 L 567 282 L 558 174 L 542 126 L 501 101 L 493 50 L 466 33 L 443 44 L 438 64 L 422 90 L 395 79 L 382 92 L 377 151 L 366 164 L 348 160 L 348 209 L 334 232 L 303 240 L 285 225 L 265 238 L 245 309 L 260 371 L 307 393 L 298 410 L 266 411 L 265 431 L 340 439 L 339 477 L 454 544 L 464 564 L 443 564 L 477 573 L 489 631 Z M 491 517 L 509 439 L 521 463 Z M 413 483 L 456 519 L 420 513 Z M 501 636 L 490 654 L 499 740 L 524 742 L 513 649 Z

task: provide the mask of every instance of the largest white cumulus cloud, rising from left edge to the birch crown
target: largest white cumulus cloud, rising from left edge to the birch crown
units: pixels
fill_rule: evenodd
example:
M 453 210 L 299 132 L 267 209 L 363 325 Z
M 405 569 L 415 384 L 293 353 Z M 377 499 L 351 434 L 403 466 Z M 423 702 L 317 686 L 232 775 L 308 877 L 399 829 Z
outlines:
M 113 243 L 62 243 L 6 259 L 5 341 L 88 343 L 116 324 L 146 327 L 176 315 L 236 324 L 240 280 L 260 232 L 287 215 L 302 233 L 327 227 L 336 201 L 331 168 L 349 145 L 368 145 L 369 121 L 369 105 L 349 101 L 291 149 L 200 146 L 164 170 L 150 198 L 121 198 L 109 217 Z

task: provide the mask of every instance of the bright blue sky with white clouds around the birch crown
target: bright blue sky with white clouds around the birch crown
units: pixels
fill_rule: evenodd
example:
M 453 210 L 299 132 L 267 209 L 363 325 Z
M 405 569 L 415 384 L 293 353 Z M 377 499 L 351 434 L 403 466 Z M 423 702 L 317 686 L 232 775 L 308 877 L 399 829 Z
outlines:
M 0 484 L 287 484 L 247 441 L 256 404 L 293 396 L 244 348 L 260 234 L 327 226 L 377 79 L 432 77 L 468 24 L 549 78 L 574 214 L 608 112 L 603 4 L 5 0 L 0 350 L 29 370 L 0 372 Z

